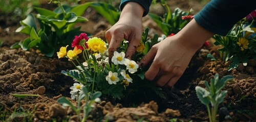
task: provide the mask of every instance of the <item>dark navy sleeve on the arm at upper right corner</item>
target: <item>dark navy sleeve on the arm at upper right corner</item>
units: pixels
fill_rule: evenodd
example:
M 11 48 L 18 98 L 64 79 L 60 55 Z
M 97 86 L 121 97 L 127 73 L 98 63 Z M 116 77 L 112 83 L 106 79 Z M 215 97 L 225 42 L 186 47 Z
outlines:
M 234 24 L 255 9 L 255 0 L 211 0 L 194 18 L 208 31 L 225 36 Z

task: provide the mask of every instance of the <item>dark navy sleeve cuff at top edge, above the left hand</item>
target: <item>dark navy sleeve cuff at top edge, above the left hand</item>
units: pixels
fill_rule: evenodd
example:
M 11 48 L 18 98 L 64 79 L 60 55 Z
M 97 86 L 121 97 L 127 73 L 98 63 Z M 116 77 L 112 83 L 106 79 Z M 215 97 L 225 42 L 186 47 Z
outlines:
M 140 4 L 140 6 L 142 6 L 145 9 L 143 16 L 146 16 L 148 14 L 148 12 L 150 11 L 150 5 L 152 3 L 152 0 L 122 0 L 121 4 L 120 4 L 121 11 L 127 2 L 136 2 L 136 3 Z

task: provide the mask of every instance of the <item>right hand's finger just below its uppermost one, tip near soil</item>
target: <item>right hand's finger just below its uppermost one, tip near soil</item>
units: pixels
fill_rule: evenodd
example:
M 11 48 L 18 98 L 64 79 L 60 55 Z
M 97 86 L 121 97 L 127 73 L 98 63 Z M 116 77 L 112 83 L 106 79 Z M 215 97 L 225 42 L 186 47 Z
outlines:
M 145 78 L 148 80 L 154 80 L 159 70 L 159 66 L 153 62 L 150 68 L 146 71 Z

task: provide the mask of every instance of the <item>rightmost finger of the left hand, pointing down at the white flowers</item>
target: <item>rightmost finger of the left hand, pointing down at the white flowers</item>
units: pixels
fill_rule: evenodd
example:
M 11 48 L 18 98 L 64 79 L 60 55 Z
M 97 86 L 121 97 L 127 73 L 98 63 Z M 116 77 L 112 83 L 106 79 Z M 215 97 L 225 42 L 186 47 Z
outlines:
M 126 58 L 131 59 L 133 54 L 135 53 L 137 46 L 140 44 L 141 37 L 137 37 L 134 35 L 131 40 L 129 40 L 129 45 L 126 50 Z

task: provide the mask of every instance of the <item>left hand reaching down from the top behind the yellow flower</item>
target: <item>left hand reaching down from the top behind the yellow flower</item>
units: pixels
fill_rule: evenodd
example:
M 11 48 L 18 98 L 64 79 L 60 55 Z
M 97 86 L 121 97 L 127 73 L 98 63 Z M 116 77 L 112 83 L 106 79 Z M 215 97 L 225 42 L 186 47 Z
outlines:
M 127 3 L 118 22 L 106 31 L 105 37 L 109 43 L 110 59 L 123 39 L 129 41 L 126 57 L 131 59 L 141 40 L 143 12 L 144 9 L 139 4 L 134 2 Z

